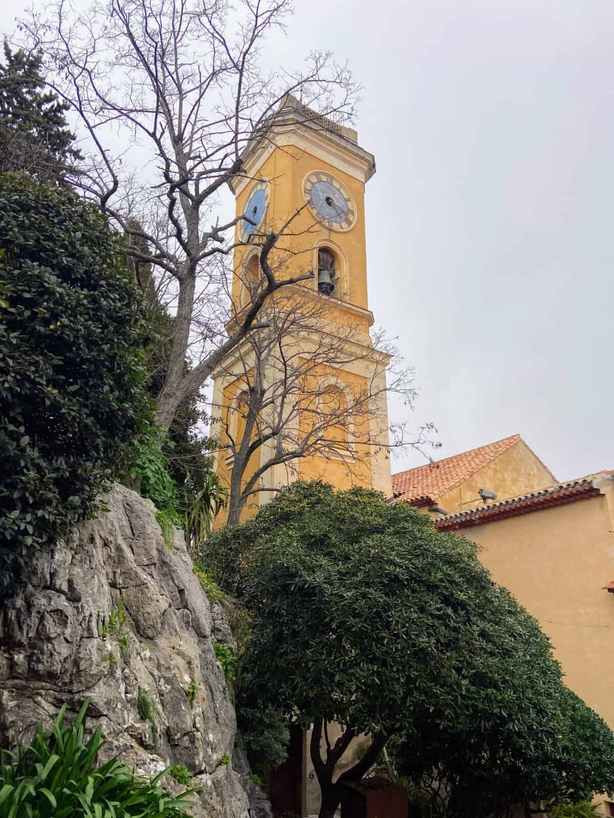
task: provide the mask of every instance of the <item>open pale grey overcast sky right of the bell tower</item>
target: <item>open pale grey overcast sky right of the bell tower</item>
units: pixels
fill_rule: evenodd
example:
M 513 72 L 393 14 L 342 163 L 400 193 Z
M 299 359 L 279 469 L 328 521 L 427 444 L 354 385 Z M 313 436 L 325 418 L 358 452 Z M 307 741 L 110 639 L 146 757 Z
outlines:
M 296 0 L 270 53 L 320 48 L 364 85 L 369 306 L 412 422 L 438 458 L 518 432 L 559 479 L 614 468 L 612 0 Z

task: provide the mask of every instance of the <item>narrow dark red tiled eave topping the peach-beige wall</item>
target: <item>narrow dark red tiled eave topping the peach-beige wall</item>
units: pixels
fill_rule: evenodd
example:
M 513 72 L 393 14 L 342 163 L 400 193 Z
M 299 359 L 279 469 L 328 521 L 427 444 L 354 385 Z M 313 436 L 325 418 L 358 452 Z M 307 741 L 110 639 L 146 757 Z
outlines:
M 603 475 L 603 472 L 589 474 L 587 477 L 571 480 L 568 483 L 558 483 L 556 486 L 549 486 L 549 488 L 544 488 L 540 492 L 531 492 L 530 494 L 523 494 L 521 497 L 513 497 L 510 500 L 490 503 L 477 509 L 440 517 L 440 519 L 435 520 L 435 527 L 439 531 L 456 531 L 458 528 L 469 528 L 472 525 L 492 523 L 506 517 L 530 514 L 532 511 L 540 511 L 552 506 L 565 506 L 567 503 L 578 500 L 588 500 L 589 497 L 596 497 L 600 493 L 596 484 L 596 478 L 600 474 Z M 614 589 L 614 582 L 612 587 Z

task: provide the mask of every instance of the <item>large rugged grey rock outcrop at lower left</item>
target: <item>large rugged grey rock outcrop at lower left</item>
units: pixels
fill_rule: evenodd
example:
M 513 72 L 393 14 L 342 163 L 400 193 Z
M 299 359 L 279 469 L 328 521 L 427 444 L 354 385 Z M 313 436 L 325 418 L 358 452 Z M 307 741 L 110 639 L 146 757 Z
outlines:
M 38 555 L 30 587 L 2 609 L 0 746 L 90 699 L 102 760 L 120 755 L 142 775 L 183 764 L 202 788 L 195 818 L 246 818 L 255 788 L 233 769 L 235 713 L 213 647 L 212 628 L 228 640 L 228 624 L 219 609 L 212 621 L 182 533 L 169 550 L 150 501 L 115 486 L 106 506 Z

